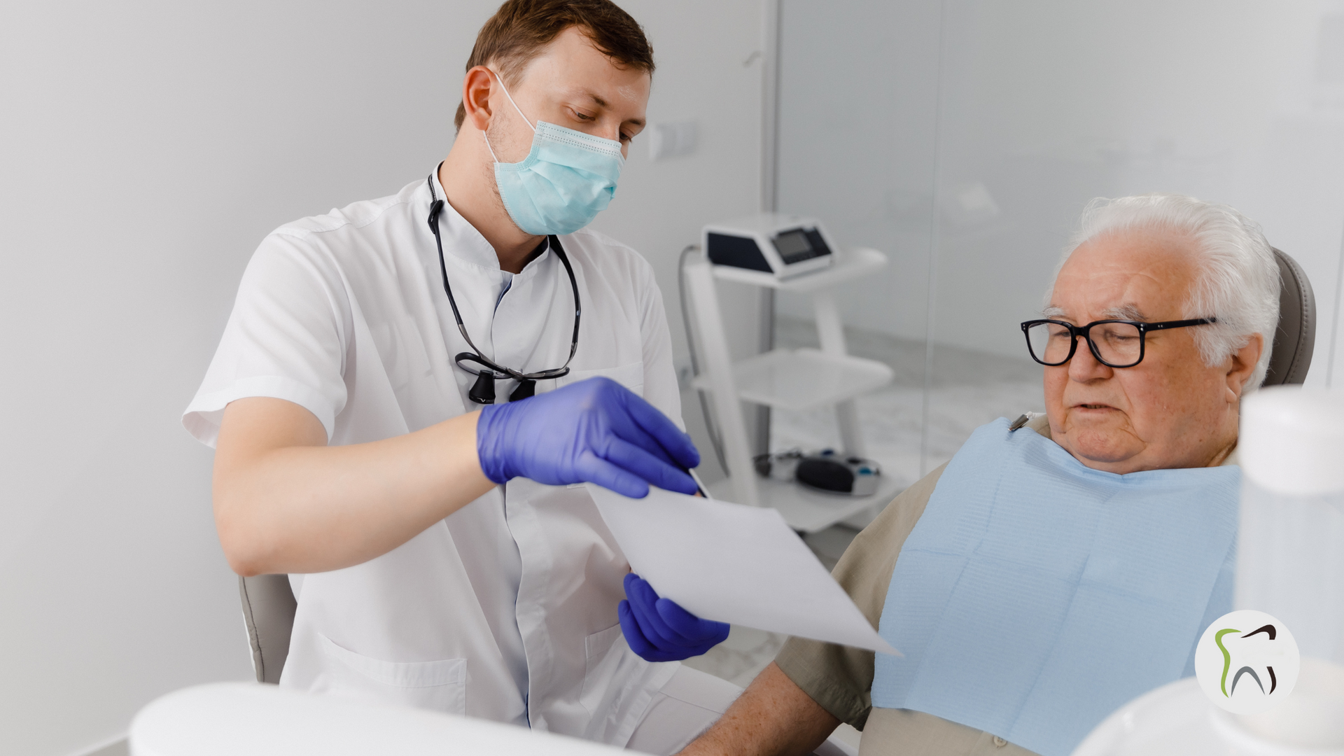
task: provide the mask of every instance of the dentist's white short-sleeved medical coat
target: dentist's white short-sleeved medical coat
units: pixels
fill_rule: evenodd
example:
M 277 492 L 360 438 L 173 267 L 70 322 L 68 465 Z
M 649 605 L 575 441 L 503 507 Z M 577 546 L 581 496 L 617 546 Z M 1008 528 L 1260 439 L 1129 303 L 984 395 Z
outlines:
M 444 190 L 434 179 L 439 198 Z M 457 331 L 426 223 L 425 180 L 281 226 L 261 243 L 183 424 L 214 445 L 224 405 L 277 397 L 331 444 L 399 436 L 476 409 L 454 367 Z M 449 282 L 487 356 L 523 371 L 564 363 L 574 301 L 547 250 L 512 277 L 445 204 Z M 680 422 L 653 272 L 594 231 L 560 237 L 583 307 L 567 377 L 607 375 Z M 516 383 L 499 381 L 500 401 Z M 582 487 L 516 479 L 358 566 L 293 576 L 281 685 L 531 724 L 624 745 L 676 663 L 625 644 L 616 607 L 629 566 Z

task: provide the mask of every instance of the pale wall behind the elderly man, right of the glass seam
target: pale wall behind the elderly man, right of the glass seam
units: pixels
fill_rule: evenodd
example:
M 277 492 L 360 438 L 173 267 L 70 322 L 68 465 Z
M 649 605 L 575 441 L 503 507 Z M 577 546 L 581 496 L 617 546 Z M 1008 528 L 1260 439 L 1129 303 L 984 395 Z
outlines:
M 937 339 L 1017 351 L 1025 316 L 1009 315 L 1039 307 L 1086 195 L 1176 191 L 1232 204 L 1302 264 L 1327 313 L 1312 370 L 1324 382 L 1344 237 L 1344 102 L 1320 97 L 1317 67 L 1322 44 L 1344 43 L 1321 38 L 1328 7 L 948 8 L 939 191 L 982 183 L 1001 214 L 943 225 Z

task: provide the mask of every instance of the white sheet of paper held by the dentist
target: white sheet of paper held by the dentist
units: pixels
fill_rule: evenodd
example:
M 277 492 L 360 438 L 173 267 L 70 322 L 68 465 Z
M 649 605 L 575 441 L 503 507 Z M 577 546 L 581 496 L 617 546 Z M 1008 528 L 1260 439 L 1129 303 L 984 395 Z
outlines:
M 688 612 L 899 655 L 775 510 L 589 490 L 630 568 Z

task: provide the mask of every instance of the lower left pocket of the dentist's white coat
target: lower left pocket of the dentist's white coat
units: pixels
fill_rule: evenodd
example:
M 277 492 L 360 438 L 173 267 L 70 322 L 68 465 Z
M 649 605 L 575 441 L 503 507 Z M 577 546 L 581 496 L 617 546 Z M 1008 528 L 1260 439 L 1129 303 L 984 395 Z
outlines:
M 327 663 L 314 691 L 466 713 L 466 659 L 386 662 L 356 654 L 325 635 L 317 638 Z

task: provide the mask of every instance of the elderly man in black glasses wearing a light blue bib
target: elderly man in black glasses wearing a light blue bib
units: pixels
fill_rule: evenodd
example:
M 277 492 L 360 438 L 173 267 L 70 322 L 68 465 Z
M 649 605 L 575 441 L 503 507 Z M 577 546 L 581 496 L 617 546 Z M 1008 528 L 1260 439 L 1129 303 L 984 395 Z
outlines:
M 792 639 L 683 753 L 808 753 L 844 721 L 863 755 L 1066 756 L 1193 674 L 1231 609 L 1278 269 L 1249 219 L 1175 195 L 1094 202 L 1070 249 L 1023 323 L 1046 416 L 977 429 L 836 566 L 905 656 Z

